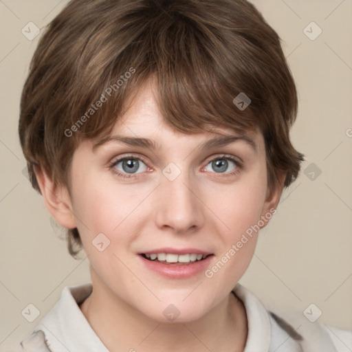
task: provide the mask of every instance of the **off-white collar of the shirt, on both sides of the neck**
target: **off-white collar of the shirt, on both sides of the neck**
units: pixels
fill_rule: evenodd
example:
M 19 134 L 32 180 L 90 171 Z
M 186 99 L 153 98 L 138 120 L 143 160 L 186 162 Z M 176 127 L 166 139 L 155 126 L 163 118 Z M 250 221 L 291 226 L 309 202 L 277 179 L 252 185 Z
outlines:
M 61 299 L 34 329 L 45 332 L 48 347 L 52 351 L 109 352 L 79 307 L 92 289 L 91 283 L 66 286 Z M 289 338 L 285 335 L 285 329 L 278 325 L 252 292 L 239 283 L 232 292 L 243 302 L 248 320 L 248 337 L 243 352 L 275 351 L 278 341 Z M 299 351 L 302 349 L 293 339 L 285 343 L 285 352 Z

